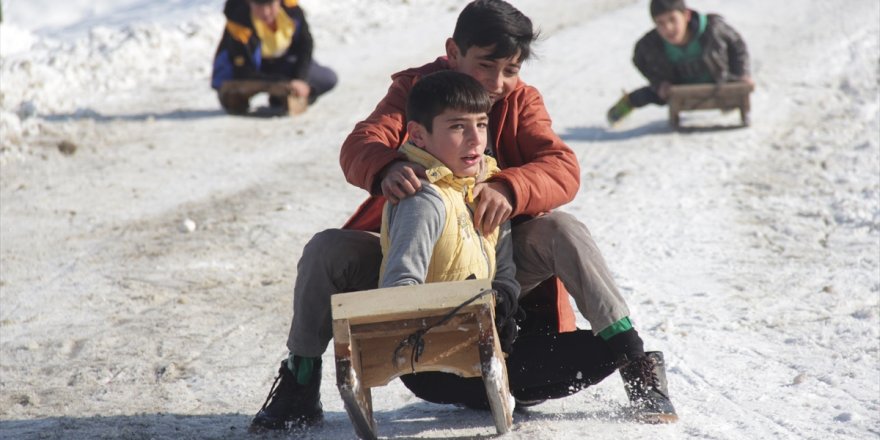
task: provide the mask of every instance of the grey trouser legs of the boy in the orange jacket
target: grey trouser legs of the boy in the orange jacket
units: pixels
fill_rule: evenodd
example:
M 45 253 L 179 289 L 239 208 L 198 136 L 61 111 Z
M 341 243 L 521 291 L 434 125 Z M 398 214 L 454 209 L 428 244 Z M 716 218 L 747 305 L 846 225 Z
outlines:
M 558 276 L 594 333 L 629 315 L 590 232 L 570 214 L 553 212 L 514 226 L 513 258 L 522 295 Z M 375 233 L 328 229 L 312 237 L 297 264 L 290 352 L 321 356 L 333 338 L 330 295 L 375 289 L 381 263 Z

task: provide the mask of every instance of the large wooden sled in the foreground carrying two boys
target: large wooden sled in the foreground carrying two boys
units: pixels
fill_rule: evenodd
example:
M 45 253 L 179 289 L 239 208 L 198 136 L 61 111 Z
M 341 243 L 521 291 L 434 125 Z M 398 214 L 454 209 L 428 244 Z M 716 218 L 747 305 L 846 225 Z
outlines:
M 490 288 L 488 280 L 468 280 L 331 297 L 336 385 L 360 438 L 377 438 L 371 388 L 425 371 L 482 376 L 496 430 L 510 430 L 513 400 Z M 481 292 L 486 294 L 451 314 Z M 412 335 L 429 327 L 415 360 Z

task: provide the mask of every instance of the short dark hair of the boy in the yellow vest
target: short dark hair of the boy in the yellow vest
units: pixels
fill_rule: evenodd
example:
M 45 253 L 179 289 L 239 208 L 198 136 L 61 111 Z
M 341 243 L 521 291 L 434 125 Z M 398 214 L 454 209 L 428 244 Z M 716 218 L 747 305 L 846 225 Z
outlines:
M 423 76 L 413 86 L 406 101 L 406 119 L 422 124 L 428 133 L 434 118 L 446 110 L 489 113 L 489 93 L 470 75 L 441 70 Z

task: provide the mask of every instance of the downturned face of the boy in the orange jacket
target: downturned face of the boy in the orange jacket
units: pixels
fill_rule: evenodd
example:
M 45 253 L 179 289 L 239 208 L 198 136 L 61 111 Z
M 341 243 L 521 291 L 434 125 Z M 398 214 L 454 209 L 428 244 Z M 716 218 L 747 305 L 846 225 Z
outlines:
M 522 63 L 518 53 L 510 58 L 489 58 L 492 49 L 494 47 L 474 46 L 462 54 L 455 41 L 451 38 L 446 40 L 446 55 L 452 70 L 468 74 L 479 81 L 489 92 L 492 102 L 498 102 L 516 87 Z

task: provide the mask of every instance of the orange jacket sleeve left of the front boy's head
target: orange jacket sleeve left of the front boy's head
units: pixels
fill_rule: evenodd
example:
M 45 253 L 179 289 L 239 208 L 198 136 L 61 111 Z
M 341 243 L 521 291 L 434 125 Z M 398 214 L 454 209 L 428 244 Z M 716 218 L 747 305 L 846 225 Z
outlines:
M 398 76 L 376 108 L 342 143 L 339 164 L 345 180 L 371 194 L 381 193 L 379 175 L 391 162 L 406 160 L 397 151 L 406 132 L 406 98 L 413 86 L 410 76 Z

